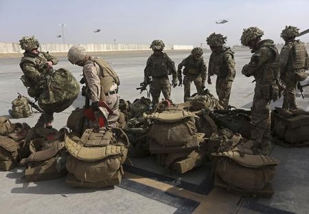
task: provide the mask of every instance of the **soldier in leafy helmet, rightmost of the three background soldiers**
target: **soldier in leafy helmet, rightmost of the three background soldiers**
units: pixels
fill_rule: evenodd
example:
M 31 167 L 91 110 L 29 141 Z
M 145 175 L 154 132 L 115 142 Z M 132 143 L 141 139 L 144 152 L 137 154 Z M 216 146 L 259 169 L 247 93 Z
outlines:
M 236 75 L 234 52 L 224 45 L 226 40 L 227 37 L 216 33 L 210 34 L 206 39 L 211 49 L 207 83 L 211 85 L 210 76 L 217 75 L 216 92 L 220 105 L 225 109 L 229 106 L 231 85 Z

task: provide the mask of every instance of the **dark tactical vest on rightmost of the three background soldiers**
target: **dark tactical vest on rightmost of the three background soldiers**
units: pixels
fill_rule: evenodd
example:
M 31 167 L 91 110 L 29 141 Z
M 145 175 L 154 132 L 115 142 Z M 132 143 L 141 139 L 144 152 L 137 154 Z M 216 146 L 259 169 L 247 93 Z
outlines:
M 232 58 L 234 58 L 234 52 L 230 47 L 222 47 L 222 51 L 220 53 L 211 53 L 209 58 L 209 67 L 208 72 L 210 74 L 216 74 L 218 78 L 226 78 L 228 67 L 227 62 L 225 61 L 225 55 L 230 54 Z M 232 77 L 234 78 L 236 75 L 236 71 L 232 71 Z

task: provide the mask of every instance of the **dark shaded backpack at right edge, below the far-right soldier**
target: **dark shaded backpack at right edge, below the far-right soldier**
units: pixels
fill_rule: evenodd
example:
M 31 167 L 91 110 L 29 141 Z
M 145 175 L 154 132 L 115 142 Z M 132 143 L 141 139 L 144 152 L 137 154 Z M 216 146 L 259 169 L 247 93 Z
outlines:
M 301 147 L 309 145 L 309 112 L 288 111 L 276 107 L 271 112 L 271 130 L 279 145 Z

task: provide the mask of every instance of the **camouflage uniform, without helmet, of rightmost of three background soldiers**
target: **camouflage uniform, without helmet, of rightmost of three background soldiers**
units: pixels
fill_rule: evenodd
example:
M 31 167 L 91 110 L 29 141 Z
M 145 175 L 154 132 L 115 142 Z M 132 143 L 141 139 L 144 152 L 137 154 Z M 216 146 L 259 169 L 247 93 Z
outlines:
M 234 52 L 230 47 L 222 46 L 220 52 L 212 52 L 209 58 L 208 75 L 217 75 L 216 93 L 220 105 L 227 109 L 229 106 L 229 96 L 231 95 L 231 85 L 236 76 Z

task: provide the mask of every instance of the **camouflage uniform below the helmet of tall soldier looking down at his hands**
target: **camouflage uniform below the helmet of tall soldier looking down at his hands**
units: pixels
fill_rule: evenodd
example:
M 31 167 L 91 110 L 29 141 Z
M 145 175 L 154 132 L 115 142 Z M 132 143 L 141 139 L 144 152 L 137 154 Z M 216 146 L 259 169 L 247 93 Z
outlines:
M 253 106 L 251 110 L 253 129 L 251 138 L 263 147 L 270 145 L 271 140 L 271 118 L 269 114 L 269 103 L 275 99 L 275 73 L 279 67 L 279 54 L 274 43 L 270 39 L 258 43 L 257 50 L 251 56 L 249 64 L 244 65 L 242 74 L 254 76 L 255 89 Z

